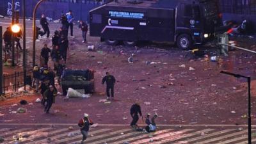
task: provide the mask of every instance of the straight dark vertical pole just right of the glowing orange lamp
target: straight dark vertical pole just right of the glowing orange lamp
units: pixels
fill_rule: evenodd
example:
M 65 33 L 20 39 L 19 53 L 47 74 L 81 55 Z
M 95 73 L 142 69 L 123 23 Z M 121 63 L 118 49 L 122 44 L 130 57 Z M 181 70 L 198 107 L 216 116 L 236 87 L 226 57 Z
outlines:
M 24 92 L 26 92 L 26 10 L 25 10 L 25 0 L 22 1 L 22 17 L 23 17 L 23 83 Z

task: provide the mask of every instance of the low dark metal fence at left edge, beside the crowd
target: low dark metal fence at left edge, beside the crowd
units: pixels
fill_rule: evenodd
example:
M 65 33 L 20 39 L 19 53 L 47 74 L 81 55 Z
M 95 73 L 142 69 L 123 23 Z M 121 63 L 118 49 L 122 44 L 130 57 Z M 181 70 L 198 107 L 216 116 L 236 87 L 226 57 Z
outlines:
M 24 86 L 24 72 L 14 72 L 14 74 L 4 74 L 3 75 L 3 94 L 17 92 L 17 90 Z M 26 72 L 28 77 L 26 81 L 31 79 L 32 70 Z M 30 78 L 29 78 L 30 77 Z

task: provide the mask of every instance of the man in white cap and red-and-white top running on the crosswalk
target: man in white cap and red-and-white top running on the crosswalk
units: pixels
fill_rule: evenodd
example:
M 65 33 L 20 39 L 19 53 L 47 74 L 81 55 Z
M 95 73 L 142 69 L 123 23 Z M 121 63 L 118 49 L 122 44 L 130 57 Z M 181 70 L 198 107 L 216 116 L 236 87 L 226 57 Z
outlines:
M 84 113 L 84 117 L 81 118 L 81 120 L 79 120 L 79 122 L 78 122 L 78 126 L 80 127 L 81 133 L 83 135 L 81 144 L 84 143 L 84 140 L 86 140 L 86 138 L 88 136 L 88 131 L 89 131 L 90 125 L 93 125 L 93 122 L 89 118 L 89 115 L 87 113 Z

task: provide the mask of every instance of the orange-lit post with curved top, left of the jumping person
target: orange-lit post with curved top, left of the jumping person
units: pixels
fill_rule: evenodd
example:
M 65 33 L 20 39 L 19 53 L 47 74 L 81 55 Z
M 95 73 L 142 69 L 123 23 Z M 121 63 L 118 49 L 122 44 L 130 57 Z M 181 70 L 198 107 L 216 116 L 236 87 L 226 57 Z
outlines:
M 38 1 L 38 3 L 36 3 L 36 6 L 33 10 L 33 67 L 35 67 L 36 65 L 36 10 L 38 8 L 38 6 L 40 5 L 40 3 L 42 3 L 45 0 L 40 0 Z

